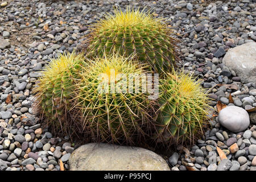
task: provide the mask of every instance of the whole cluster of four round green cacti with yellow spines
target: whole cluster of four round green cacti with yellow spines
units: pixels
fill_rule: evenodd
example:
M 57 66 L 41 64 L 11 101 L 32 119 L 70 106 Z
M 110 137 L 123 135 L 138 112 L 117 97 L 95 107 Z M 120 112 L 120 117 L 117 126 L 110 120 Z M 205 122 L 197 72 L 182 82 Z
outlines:
M 86 133 L 86 140 L 94 142 L 139 144 L 147 137 L 173 144 L 193 139 L 208 119 L 208 97 L 199 81 L 175 71 L 179 59 L 170 35 L 149 11 L 116 10 L 100 20 L 85 56 L 61 55 L 43 71 L 35 88 L 42 121 L 55 133 Z M 146 82 L 140 81 L 139 92 L 123 85 L 127 79 L 133 91 L 138 89 L 136 78 L 122 76 L 146 72 L 162 75 L 157 100 L 149 99 Z

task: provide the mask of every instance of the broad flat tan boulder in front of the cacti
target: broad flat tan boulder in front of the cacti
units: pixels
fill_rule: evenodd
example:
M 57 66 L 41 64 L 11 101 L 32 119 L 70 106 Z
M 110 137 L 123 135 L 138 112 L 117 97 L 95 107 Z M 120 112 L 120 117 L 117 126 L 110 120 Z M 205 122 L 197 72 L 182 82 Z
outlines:
M 170 171 L 166 160 L 139 147 L 89 143 L 69 157 L 71 171 Z

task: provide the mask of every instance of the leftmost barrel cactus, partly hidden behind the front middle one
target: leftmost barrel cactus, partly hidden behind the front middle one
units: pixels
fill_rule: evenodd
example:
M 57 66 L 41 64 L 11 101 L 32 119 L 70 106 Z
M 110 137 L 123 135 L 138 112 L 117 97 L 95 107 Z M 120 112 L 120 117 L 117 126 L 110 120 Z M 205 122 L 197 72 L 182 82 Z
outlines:
M 75 90 L 75 82 L 81 67 L 84 65 L 84 56 L 75 52 L 60 55 L 52 59 L 42 77 L 35 85 L 35 109 L 41 113 L 47 126 L 52 126 L 55 133 L 69 134 L 69 109 Z

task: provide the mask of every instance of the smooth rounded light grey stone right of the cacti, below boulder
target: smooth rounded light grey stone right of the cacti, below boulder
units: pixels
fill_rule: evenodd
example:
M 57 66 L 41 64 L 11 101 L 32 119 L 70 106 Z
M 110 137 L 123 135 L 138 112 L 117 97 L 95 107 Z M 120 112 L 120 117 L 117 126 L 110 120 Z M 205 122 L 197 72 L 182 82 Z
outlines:
M 220 124 L 226 129 L 239 133 L 250 125 L 249 114 L 245 109 L 237 106 L 228 106 L 218 114 Z

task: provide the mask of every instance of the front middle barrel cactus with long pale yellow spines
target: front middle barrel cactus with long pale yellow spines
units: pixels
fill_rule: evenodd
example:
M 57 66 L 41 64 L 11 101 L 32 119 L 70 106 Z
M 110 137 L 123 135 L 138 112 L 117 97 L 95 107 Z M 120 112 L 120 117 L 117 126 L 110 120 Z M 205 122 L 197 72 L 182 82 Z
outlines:
M 117 54 L 86 59 L 86 63 L 88 65 L 80 73 L 81 79 L 76 86 L 76 104 L 73 107 L 77 110 L 77 118 L 81 115 L 81 129 L 89 130 L 94 142 L 133 144 L 135 140 L 144 138 L 144 131 L 150 126 L 148 112 L 152 107 L 148 94 L 142 87 L 138 93 L 130 93 L 126 90 L 127 85 L 118 87 L 120 90 L 112 90 L 113 84 L 122 85 L 125 80 L 119 77 L 119 73 L 140 75 L 143 68 L 138 67 L 134 57 L 125 58 Z M 131 85 L 134 89 L 134 78 L 129 78 L 133 80 Z

